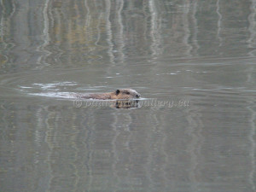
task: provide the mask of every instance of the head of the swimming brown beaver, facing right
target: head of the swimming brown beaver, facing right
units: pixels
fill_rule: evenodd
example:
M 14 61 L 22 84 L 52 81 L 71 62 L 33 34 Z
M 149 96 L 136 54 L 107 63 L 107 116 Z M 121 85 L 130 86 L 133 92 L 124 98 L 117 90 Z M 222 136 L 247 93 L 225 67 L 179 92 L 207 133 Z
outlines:
M 141 95 L 136 90 L 131 89 L 115 90 L 111 93 L 111 99 L 136 99 L 140 97 Z

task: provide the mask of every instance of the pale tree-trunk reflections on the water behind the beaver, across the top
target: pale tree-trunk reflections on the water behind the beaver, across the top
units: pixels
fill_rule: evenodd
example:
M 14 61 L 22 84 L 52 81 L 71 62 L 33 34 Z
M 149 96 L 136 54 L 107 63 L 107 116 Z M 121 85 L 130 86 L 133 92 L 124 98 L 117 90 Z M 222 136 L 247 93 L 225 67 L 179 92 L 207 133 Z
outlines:
M 19 3 L 22 6 L 17 6 Z M 229 57 L 253 51 L 249 45 L 253 36 L 248 37 L 253 35 L 253 2 L 236 1 L 234 6 L 241 6 L 236 6 L 233 12 L 226 11 L 229 8 L 223 1 L 19 3 L 2 3 L 3 45 L 15 44 L 14 49 L 5 51 L 3 63 L 9 55 L 16 58 L 3 67 L 11 63 L 13 67 L 32 67 L 38 63 L 38 69 L 47 64 L 81 67 L 91 63 L 111 67 L 132 58 L 155 62 L 166 56 Z M 26 12 L 31 15 L 29 20 Z M 232 20 L 233 15 L 239 16 Z

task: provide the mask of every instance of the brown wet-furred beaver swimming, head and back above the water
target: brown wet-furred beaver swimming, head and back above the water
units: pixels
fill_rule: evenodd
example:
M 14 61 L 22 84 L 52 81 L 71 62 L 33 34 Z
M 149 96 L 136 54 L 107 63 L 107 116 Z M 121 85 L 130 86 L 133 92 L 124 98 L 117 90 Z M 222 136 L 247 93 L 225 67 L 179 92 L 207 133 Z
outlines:
M 132 89 L 120 89 L 115 90 L 113 92 L 108 93 L 90 93 L 86 95 L 79 95 L 79 98 L 84 99 L 101 99 L 101 100 L 130 100 L 130 99 L 138 99 L 141 95 L 136 91 Z

